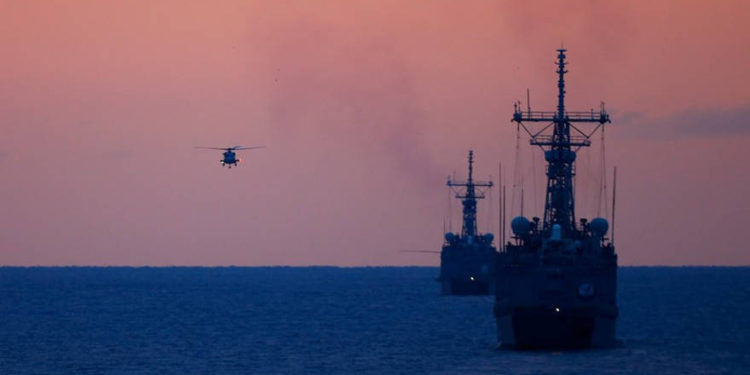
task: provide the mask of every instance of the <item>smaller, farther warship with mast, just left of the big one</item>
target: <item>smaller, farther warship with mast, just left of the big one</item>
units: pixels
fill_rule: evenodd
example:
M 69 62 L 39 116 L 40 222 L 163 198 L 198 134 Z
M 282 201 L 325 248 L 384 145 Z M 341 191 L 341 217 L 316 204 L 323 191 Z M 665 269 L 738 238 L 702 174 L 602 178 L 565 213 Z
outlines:
M 463 204 L 461 233 L 445 234 L 440 252 L 440 281 L 443 294 L 488 295 L 494 291 L 495 257 L 491 233 L 480 234 L 477 229 L 477 199 L 484 194 L 477 189 L 490 188 L 492 182 L 474 181 L 474 152 L 469 151 L 469 179 L 447 185 Z M 460 189 L 460 190 L 459 190 Z

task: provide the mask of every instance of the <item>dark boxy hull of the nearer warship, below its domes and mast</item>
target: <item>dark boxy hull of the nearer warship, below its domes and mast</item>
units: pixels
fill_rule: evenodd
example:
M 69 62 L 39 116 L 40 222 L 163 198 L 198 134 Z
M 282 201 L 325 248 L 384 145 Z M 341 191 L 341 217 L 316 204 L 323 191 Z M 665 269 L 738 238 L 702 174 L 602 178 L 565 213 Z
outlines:
M 617 258 L 540 260 L 519 248 L 498 256 L 494 315 L 498 344 L 517 349 L 615 344 Z

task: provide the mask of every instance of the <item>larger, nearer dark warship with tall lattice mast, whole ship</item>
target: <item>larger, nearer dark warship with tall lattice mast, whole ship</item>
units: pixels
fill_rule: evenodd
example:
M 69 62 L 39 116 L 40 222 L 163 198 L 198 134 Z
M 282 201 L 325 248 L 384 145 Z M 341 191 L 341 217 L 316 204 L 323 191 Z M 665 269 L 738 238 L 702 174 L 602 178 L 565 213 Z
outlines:
M 557 50 L 556 111 L 523 111 L 512 121 L 544 151 L 547 189 L 544 217 L 511 221 L 513 237 L 497 256 L 494 315 L 502 346 L 607 347 L 615 343 L 617 255 L 604 218 L 576 221 L 576 152 L 609 115 L 565 109 L 565 49 Z M 525 123 L 546 123 L 534 132 Z M 592 124 L 588 132 L 575 123 Z M 550 133 L 551 132 L 551 133 Z

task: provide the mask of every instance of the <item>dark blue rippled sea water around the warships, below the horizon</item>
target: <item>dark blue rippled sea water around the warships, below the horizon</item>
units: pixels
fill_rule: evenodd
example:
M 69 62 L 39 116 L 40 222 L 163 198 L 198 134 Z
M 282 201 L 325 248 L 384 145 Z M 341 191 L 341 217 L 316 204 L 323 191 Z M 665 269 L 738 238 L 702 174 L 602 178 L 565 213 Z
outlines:
M 0 374 L 748 374 L 750 268 L 621 268 L 620 347 L 495 350 L 435 268 L 0 268 Z

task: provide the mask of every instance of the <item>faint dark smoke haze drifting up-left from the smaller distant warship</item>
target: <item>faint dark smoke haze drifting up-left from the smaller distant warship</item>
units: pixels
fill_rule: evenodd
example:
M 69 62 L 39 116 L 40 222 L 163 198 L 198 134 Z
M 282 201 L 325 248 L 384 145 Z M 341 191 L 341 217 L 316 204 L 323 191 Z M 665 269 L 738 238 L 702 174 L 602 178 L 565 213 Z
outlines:
M 396 37 L 327 39 L 344 31 L 318 22 L 295 20 L 297 32 L 269 46 L 269 70 L 277 77 L 269 88 L 271 121 L 285 138 L 312 131 L 308 137 L 330 152 L 376 155 L 367 158 L 390 159 L 421 183 L 440 180 L 444 170 L 425 147 L 422 132 L 430 123 L 415 73 L 393 46 Z

